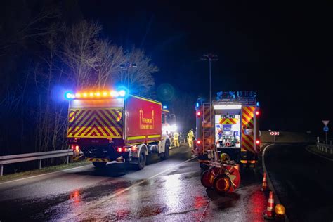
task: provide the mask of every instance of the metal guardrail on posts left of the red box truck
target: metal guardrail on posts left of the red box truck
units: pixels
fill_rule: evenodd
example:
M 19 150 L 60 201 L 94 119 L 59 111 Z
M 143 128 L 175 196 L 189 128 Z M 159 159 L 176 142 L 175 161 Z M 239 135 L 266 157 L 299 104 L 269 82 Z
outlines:
M 70 156 L 73 155 L 73 150 L 55 150 L 48 152 L 32 152 L 18 155 L 8 155 L 8 156 L 0 156 L 0 176 L 4 173 L 4 165 L 5 164 L 14 164 L 18 162 L 28 162 L 33 160 L 39 160 L 39 169 L 41 169 L 41 159 L 48 159 L 53 157 L 66 157 L 67 156 L 67 164 L 70 161 Z

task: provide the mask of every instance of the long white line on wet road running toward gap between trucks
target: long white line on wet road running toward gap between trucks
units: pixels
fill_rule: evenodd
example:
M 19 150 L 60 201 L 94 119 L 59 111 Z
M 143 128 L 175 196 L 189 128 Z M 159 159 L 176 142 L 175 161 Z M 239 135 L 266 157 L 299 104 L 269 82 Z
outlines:
M 161 175 L 161 174 L 164 174 L 164 173 L 166 173 L 167 171 L 170 171 L 171 169 L 176 168 L 177 166 L 181 166 L 182 164 L 185 164 L 185 163 L 187 163 L 187 162 L 190 162 L 192 159 L 195 159 L 195 158 L 197 158 L 197 157 L 192 157 L 191 159 L 188 159 L 188 160 L 186 160 L 186 161 L 184 161 L 184 162 L 181 162 L 181 163 L 179 163 L 179 164 L 176 164 L 175 166 L 172 166 L 172 167 L 170 167 L 170 168 L 168 168 L 168 169 L 166 169 L 166 170 L 164 170 L 164 171 L 161 171 L 161 172 L 159 172 L 158 174 L 155 174 L 155 175 L 153 175 L 153 176 L 150 176 L 149 178 L 143 179 L 142 181 L 140 181 L 140 182 L 138 182 L 138 183 L 134 183 L 133 185 L 129 186 L 128 188 L 124 188 L 123 190 L 120 190 L 120 191 L 116 192 L 115 194 L 113 194 L 113 195 L 111 195 L 111 196 L 109 196 L 109 197 L 105 197 L 103 200 L 100 200 L 100 201 L 96 202 L 96 203 L 93 204 L 92 206 L 89 206 L 89 207 L 84 208 L 84 209 L 81 210 L 79 213 L 75 214 L 75 216 L 79 216 L 79 215 L 81 215 L 81 214 L 84 214 L 84 213 L 86 213 L 86 212 L 89 212 L 89 209 L 95 208 L 96 206 L 98 206 L 98 205 L 100 205 L 100 204 L 103 204 L 103 202 L 107 202 L 108 200 L 111 200 L 112 198 L 121 195 L 123 192 L 126 192 L 127 190 L 131 190 L 131 188 L 135 187 L 136 185 L 140 185 L 141 183 L 145 183 L 146 181 L 149 181 L 149 180 L 151 180 L 152 178 L 155 178 L 155 177 L 157 177 L 157 176 L 159 176 L 159 175 Z M 67 218 L 67 219 L 69 219 L 69 218 Z M 67 220 L 67 219 L 66 219 L 66 220 Z

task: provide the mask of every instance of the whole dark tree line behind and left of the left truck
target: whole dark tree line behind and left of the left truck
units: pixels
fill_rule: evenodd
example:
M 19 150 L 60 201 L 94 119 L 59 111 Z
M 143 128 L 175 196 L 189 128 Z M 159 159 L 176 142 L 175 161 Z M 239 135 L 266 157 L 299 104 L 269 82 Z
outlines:
M 126 61 L 138 65 L 131 71 L 131 91 L 152 96 L 158 68 L 144 51 L 101 37 L 100 24 L 65 13 L 72 4 L 1 3 L 0 155 L 67 148 L 63 93 L 126 83 L 120 69 Z

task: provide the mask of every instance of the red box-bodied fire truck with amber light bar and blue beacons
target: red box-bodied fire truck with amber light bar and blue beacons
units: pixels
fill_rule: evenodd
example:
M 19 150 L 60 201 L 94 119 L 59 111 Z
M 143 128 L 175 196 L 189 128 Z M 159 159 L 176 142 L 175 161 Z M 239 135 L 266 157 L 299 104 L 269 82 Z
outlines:
M 162 135 L 162 103 L 120 91 L 66 93 L 70 100 L 67 138 L 96 167 L 129 162 L 143 169 L 147 155 L 168 159 L 170 138 Z

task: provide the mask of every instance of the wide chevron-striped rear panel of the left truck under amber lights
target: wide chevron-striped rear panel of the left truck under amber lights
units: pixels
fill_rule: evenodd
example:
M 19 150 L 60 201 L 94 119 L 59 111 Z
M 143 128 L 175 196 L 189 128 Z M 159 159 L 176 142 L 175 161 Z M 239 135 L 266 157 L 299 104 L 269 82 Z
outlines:
M 72 109 L 67 137 L 122 138 L 122 112 L 114 108 Z

